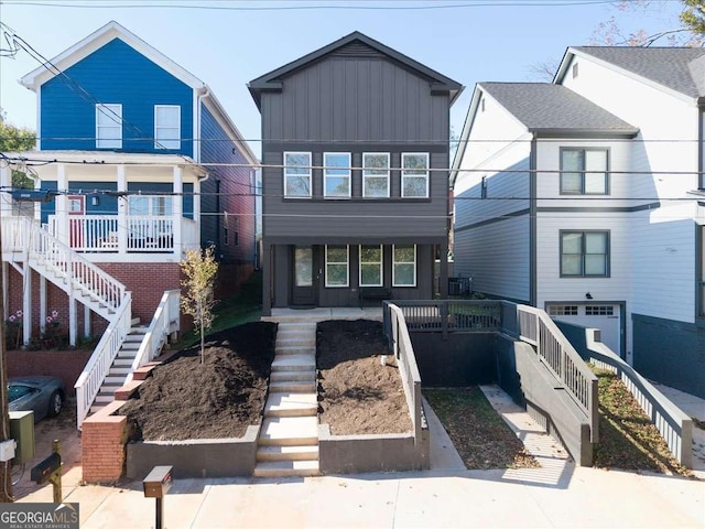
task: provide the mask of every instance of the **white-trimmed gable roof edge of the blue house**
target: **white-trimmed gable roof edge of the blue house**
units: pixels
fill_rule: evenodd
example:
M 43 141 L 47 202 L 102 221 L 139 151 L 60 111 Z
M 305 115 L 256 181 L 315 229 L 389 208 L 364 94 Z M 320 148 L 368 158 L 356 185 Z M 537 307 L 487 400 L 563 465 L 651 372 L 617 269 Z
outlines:
M 43 64 L 39 68 L 33 69 L 20 79 L 20 84 L 22 84 L 30 90 L 36 91 L 40 86 L 42 86 L 44 83 L 56 75 L 56 71 L 52 67 L 52 65 L 61 69 L 62 72 L 65 72 L 67 68 L 84 60 L 113 39 L 122 40 L 124 43 L 137 50 L 139 53 L 155 63 L 158 66 L 164 68 L 166 72 L 172 74 L 184 84 L 191 86 L 192 88 L 198 89 L 205 86 L 204 82 L 198 77 L 181 67 L 166 55 L 158 52 L 142 39 L 137 36 L 134 33 L 126 30 L 116 21 L 108 22 L 106 25 L 85 37 L 83 41 L 74 44 L 65 52 L 56 55 L 50 61 L 51 65 Z

